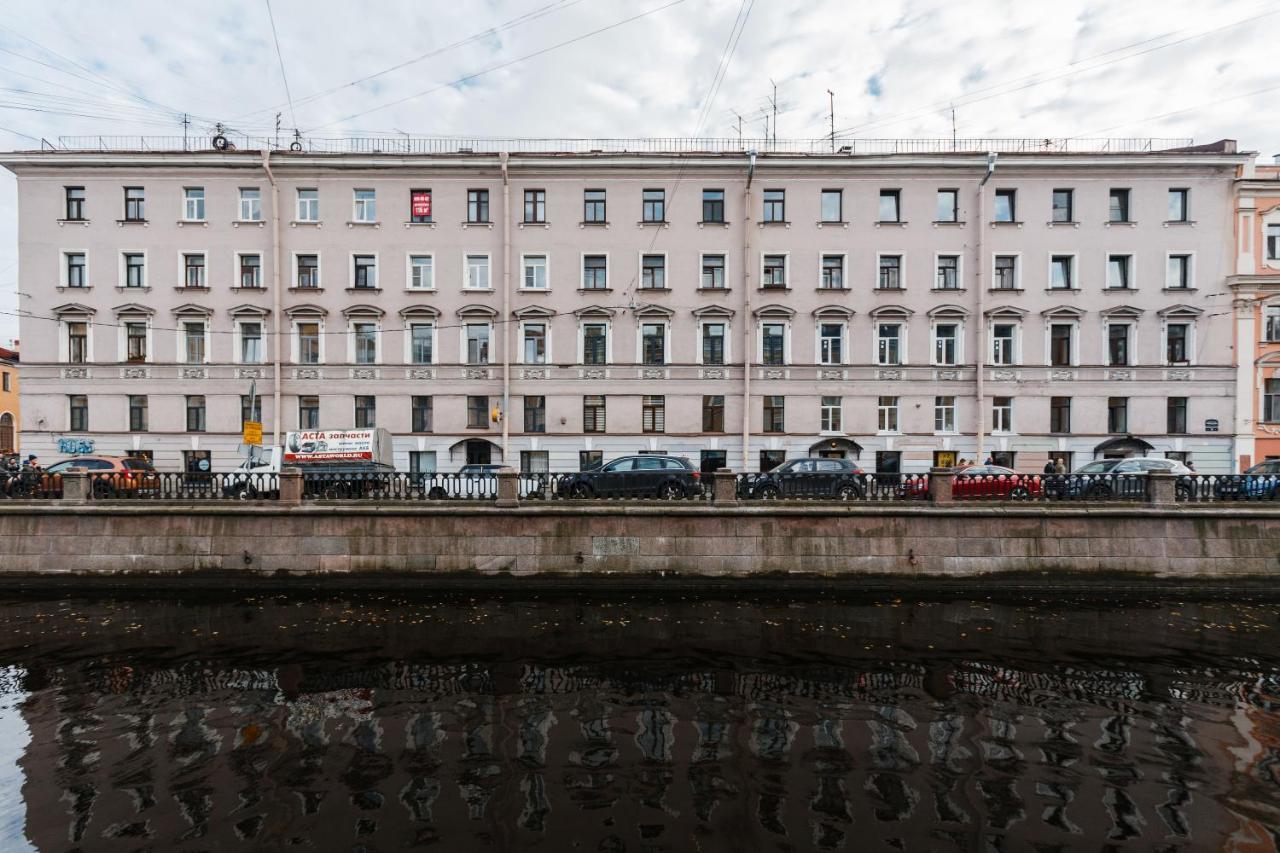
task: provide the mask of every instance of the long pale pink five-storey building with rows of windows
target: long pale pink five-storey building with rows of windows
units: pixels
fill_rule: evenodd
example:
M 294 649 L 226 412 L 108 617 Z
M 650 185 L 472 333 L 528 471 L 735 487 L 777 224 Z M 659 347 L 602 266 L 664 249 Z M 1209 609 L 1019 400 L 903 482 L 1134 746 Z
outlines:
M 256 382 L 269 435 L 385 426 L 422 471 L 1231 470 L 1233 142 L 631 147 L 0 156 L 24 446 L 227 469 Z

